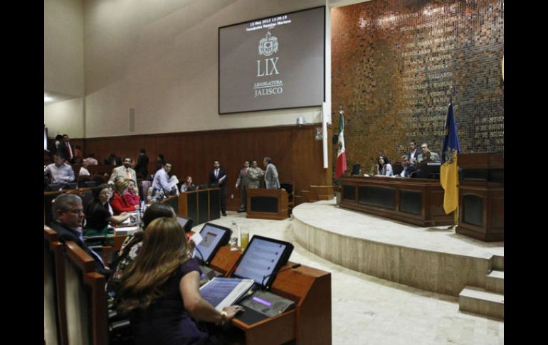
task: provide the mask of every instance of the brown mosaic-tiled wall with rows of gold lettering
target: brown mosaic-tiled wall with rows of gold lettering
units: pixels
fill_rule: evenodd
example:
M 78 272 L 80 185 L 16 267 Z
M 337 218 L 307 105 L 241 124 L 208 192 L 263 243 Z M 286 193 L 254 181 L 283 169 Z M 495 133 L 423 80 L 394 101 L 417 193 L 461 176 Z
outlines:
M 504 152 L 503 54 L 504 1 L 333 9 L 332 112 L 338 128 L 342 105 L 349 164 L 399 161 L 411 140 L 441 153 L 451 87 L 462 152 Z

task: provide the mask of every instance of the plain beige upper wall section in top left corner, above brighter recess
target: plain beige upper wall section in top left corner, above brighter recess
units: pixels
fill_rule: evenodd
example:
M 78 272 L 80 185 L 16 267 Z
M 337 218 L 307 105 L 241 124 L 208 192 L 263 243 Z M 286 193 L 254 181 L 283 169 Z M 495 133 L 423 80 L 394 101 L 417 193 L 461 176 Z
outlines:
M 44 0 L 44 90 L 84 95 L 82 0 Z

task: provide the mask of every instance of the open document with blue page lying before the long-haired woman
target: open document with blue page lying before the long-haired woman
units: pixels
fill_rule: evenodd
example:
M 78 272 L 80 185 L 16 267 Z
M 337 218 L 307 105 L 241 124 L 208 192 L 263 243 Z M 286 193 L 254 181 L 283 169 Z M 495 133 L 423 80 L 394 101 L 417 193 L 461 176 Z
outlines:
M 200 287 L 201 297 L 211 303 L 219 312 L 231 306 L 255 283 L 252 279 L 214 277 Z

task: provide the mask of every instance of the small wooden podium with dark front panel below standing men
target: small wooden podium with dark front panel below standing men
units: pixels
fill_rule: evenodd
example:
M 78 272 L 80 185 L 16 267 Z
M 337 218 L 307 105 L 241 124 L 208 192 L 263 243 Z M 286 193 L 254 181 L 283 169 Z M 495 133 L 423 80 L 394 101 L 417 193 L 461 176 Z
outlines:
M 285 189 L 248 189 L 247 218 L 288 218 L 288 192 Z

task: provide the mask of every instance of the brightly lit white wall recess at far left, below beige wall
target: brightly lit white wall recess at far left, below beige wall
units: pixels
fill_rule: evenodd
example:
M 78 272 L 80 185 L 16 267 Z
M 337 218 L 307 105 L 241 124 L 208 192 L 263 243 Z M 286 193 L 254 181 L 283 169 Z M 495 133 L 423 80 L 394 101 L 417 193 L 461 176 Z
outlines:
M 48 127 L 48 137 L 54 138 L 57 133 L 69 137 L 84 137 L 84 99 L 83 97 L 64 102 L 53 103 L 43 107 L 44 124 Z

